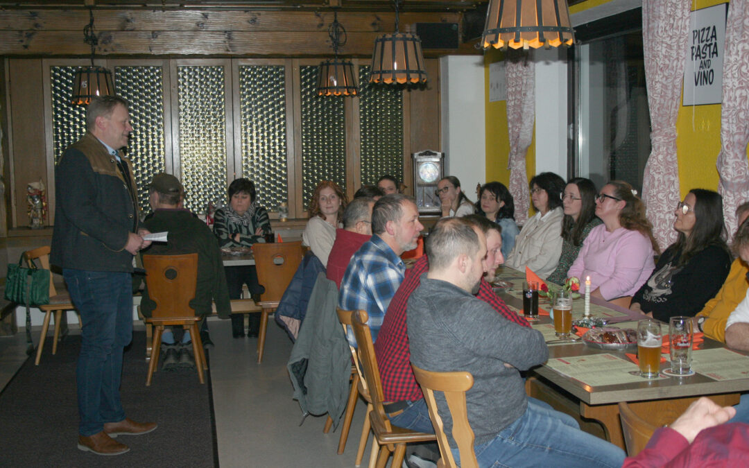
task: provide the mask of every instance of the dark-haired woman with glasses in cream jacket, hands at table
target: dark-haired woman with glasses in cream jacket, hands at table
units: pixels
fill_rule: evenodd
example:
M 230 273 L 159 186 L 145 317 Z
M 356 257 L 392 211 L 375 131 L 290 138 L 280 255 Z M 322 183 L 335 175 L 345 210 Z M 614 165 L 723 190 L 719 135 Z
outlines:
M 545 279 L 557 268 L 562 253 L 562 197 L 565 183 L 553 172 L 542 172 L 530 180 L 530 199 L 536 215 L 515 237 L 515 247 L 506 265 L 515 270 L 530 268 Z

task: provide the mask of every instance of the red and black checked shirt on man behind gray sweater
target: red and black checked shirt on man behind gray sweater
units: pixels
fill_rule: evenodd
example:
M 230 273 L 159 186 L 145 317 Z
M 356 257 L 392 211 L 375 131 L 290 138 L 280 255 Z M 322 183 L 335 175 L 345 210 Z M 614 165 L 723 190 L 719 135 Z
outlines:
M 424 398 L 416 378 L 411 371 L 406 333 L 406 304 L 411 293 L 419 287 L 422 273 L 429 269 L 426 255 L 419 258 L 413 268 L 406 270 L 406 277 L 395 296 L 390 300 L 385 319 L 375 341 L 375 355 L 380 368 L 380 379 L 385 401 L 416 401 Z M 494 294 L 485 279 L 481 280 L 480 300 L 488 303 L 503 317 L 521 326 L 530 326 L 524 317 L 512 312 L 503 300 Z

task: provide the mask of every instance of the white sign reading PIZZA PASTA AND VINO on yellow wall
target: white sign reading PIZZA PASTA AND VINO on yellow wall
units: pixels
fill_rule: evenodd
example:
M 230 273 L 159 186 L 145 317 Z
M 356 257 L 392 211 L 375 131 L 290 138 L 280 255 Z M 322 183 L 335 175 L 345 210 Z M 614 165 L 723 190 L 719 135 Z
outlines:
M 689 19 L 684 67 L 684 106 L 723 100 L 723 48 L 728 4 L 695 10 Z

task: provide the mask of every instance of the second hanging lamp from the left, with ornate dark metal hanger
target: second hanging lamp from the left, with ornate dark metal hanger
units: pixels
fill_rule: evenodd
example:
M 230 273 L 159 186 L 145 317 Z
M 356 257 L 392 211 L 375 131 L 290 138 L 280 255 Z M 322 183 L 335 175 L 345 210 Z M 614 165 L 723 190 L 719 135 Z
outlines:
M 319 96 L 356 96 L 357 76 L 354 64 L 350 60 L 338 57 L 338 49 L 346 43 L 346 30 L 338 22 L 338 12 L 333 13 L 333 22 L 328 28 L 330 43 L 333 45 L 333 58 L 328 58 L 320 64 L 318 72 Z

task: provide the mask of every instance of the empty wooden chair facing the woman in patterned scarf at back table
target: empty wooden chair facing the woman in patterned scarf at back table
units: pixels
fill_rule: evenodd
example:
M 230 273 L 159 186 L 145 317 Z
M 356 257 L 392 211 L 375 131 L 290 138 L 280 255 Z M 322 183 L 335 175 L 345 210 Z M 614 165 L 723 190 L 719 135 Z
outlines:
M 255 269 L 258 272 L 258 283 L 265 292 L 261 294 L 258 306 L 261 307 L 260 333 L 258 335 L 258 364 L 263 362 L 265 349 L 265 332 L 268 327 L 268 315 L 279 306 L 281 297 L 288 288 L 294 273 L 302 262 L 302 241 L 283 243 L 252 244 L 255 255 Z

